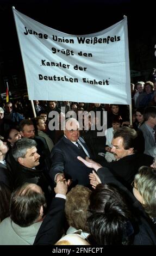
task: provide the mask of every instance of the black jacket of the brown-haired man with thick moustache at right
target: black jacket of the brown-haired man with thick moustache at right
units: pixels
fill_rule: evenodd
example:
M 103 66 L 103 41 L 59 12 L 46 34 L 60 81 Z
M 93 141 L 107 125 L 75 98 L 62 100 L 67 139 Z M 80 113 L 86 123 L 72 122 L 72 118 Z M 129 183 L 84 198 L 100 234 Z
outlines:
M 104 162 L 102 166 L 108 167 L 117 178 L 132 190 L 130 184 L 134 180 L 135 174 L 141 166 L 150 166 L 153 163 L 153 157 L 142 153 L 125 156 L 118 161 L 111 163 Z

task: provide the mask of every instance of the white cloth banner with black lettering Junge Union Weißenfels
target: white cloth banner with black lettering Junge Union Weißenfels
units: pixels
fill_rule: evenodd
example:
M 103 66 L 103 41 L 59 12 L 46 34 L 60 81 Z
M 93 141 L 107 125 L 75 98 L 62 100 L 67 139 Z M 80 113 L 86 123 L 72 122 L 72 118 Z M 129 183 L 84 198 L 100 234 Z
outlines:
M 29 100 L 131 104 L 127 18 L 69 35 L 13 8 Z

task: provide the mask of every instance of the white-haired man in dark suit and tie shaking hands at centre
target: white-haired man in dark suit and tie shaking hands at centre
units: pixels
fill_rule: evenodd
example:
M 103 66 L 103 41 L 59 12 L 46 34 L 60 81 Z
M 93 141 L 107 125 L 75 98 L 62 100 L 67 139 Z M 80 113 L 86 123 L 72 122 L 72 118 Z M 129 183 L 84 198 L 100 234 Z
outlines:
M 78 121 L 74 118 L 67 119 L 64 136 L 51 152 L 52 166 L 49 175 L 53 181 L 57 182 L 65 176 L 66 179 L 72 179 L 73 185 L 90 186 L 90 169 L 77 159 L 77 156 L 84 159 L 86 156 L 90 157 L 90 150 L 79 135 Z

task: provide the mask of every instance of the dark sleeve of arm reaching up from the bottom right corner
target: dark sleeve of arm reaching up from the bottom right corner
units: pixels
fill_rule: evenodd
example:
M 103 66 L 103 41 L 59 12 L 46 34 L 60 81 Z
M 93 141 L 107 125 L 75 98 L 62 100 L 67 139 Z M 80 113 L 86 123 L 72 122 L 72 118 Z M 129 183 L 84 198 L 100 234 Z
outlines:
M 133 245 L 156 245 L 155 227 L 149 217 L 146 215 L 142 205 L 133 194 L 124 187 L 120 181 L 110 172 L 108 168 L 102 167 L 97 170 L 97 174 L 102 184 L 113 184 L 118 187 L 127 197 L 127 202 L 136 216 L 136 230 L 134 228 Z

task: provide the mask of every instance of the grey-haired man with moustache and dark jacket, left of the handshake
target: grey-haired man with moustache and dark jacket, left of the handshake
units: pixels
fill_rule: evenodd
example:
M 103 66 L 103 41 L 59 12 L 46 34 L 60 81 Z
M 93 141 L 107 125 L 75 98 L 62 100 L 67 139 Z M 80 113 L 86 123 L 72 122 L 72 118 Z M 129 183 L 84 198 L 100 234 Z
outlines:
M 43 170 L 36 169 L 40 164 L 40 155 L 37 153 L 34 139 L 19 139 L 15 143 L 12 153 L 16 161 L 14 188 L 22 185 L 24 182 L 34 183 L 42 188 L 47 203 L 50 202 L 53 196 L 53 187 L 49 182 L 50 180 L 43 173 Z

